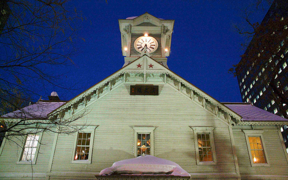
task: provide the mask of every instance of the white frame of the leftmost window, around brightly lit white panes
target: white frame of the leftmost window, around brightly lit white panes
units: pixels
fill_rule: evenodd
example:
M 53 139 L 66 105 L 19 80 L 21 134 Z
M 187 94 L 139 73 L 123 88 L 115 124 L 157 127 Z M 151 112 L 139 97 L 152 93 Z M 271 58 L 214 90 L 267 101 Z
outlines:
M 39 135 L 39 138 L 38 138 L 38 143 L 37 143 L 37 146 L 36 146 L 36 152 L 35 152 L 35 156 L 33 158 L 32 161 L 22 161 L 22 156 L 23 156 L 23 152 L 24 152 L 24 147 L 25 147 L 25 144 L 26 144 L 26 140 L 27 140 L 27 137 L 28 135 L 25 136 L 25 140 L 24 142 L 22 142 L 21 144 L 21 150 L 19 151 L 18 153 L 18 158 L 17 158 L 17 161 L 16 161 L 16 164 L 36 164 L 36 161 L 37 161 L 37 157 L 38 157 L 38 152 L 39 152 L 39 149 L 40 149 L 40 144 L 41 144 L 41 140 L 42 140 L 42 135 L 43 135 L 43 132 L 41 133 L 32 133 L 32 134 L 36 134 L 36 135 Z M 30 135 L 30 134 L 29 134 Z

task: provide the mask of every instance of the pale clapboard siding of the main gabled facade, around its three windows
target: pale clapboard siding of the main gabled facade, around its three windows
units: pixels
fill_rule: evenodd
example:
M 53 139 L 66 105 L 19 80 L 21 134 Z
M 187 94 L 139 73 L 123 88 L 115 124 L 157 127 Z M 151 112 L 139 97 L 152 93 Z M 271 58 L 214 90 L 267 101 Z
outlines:
M 91 104 L 83 117 L 95 131 L 91 164 L 70 164 L 73 135 L 59 135 L 52 172 L 92 172 L 133 158 L 130 126 L 156 126 L 155 156 L 178 163 L 189 173 L 236 173 L 228 126 L 182 96 L 168 85 L 159 87 L 159 96 L 130 96 L 129 85 L 122 85 Z M 78 123 L 83 122 L 79 119 Z M 197 166 L 193 131 L 189 126 L 213 126 L 216 166 Z

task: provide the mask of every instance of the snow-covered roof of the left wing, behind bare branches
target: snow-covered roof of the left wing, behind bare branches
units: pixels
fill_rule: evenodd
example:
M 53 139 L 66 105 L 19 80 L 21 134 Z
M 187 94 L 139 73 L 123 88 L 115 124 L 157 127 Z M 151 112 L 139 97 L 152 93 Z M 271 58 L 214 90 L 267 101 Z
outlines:
M 4 118 L 25 118 L 25 119 L 43 119 L 47 117 L 47 114 L 60 107 L 66 101 L 51 102 L 51 101 L 39 101 L 30 106 L 26 106 L 20 110 L 13 111 L 12 113 L 4 114 L 1 117 Z

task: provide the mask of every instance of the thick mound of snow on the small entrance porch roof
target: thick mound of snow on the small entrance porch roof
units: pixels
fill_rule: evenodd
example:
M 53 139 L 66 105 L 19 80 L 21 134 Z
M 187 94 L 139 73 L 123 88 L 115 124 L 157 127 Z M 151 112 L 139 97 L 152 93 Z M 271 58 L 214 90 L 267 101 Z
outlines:
M 117 161 L 112 167 L 102 170 L 99 176 L 113 174 L 190 176 L 178 164 L 151 155 Z

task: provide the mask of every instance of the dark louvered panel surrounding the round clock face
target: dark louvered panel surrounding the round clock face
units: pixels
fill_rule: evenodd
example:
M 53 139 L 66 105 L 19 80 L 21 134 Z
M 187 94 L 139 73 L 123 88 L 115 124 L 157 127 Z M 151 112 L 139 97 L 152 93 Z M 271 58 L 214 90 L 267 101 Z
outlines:
M 131 57 L 140 56 L 140 52 L 136 51 L 136 49 L 134 48 L 134 42 L 140 36 L 143 36 L 143 34 L 140 34 L 140 33 L 139 34 L 134 34 L 134 33 L 131 34 L 131 46 L 130 46 L 130 56 Z M 158 48 L 156 49 L 156 51 L 152 52 L 151 55 L 153 55 L 154 57 L 161 57 L 162 56 L 161 34 L 149 34 L 149 36 L 155 38 L 156 41 L 158 42 Z

